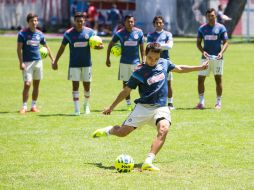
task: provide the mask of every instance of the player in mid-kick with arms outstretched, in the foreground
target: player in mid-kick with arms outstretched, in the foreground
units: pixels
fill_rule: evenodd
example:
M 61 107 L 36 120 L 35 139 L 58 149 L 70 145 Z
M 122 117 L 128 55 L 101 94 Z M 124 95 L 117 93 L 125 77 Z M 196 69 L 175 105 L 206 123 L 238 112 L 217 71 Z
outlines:
M 155 126 L 157 135 L 142 165 L 142 170 L 159 171 L 159 168 L 154 166 L 152 162 L 155 155 L 162 148 L 171 125 L 170 110 L 167 106 L 167 73 L 169 71 L 186 73 L 204 70 L 208 67 L 208 61 L 199 66 L 174 65 L 171 61 L 160 58 L 161 47 L 158 43 L 149 43 L 145 53 L 145 64 L 137 66 L 125 88 L 103 113 L 105 115 L 110 114 L 131 93 L 132 89 L 138 87 L 140 98 L 135 100 L 136 106 L 134 110 L 121 127 L 115 125 L 97 129 L 93 132 L 92 137 L 97 138 L 109 135 L 125 137 L 142 125 Z

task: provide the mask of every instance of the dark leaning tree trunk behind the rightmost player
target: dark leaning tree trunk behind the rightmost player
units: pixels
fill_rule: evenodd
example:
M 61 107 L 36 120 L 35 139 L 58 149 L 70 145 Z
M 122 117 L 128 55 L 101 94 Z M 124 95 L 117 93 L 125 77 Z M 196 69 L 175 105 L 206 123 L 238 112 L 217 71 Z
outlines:
M 229 0 L 224 14 L 232 18 L 230 22 L 225 23 L 228 31 L 228 36 L 231 38 L 232 33 L 240 20 L 247 0 Z

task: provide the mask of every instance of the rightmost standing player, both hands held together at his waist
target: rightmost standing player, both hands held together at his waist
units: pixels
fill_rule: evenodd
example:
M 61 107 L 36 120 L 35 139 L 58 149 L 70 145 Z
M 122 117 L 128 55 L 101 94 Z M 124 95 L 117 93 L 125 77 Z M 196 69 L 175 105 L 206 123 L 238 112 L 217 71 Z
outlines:
M 198 73 L 198 93 L 199 103 L 197 109 L 204 109 L 205 100 L 205 78 L 212 71 L 216 82 L 216 104 L 215 109 L 221 109 L 222 95 L 222 74 L 223 74 L 223 53 L 228 47 L 228 34 L 225 26 L 216 22 L 215 9 L 210 8 L 206 11 L 207 23 L 200 26 L 197 34 L 197 47 L 202 53 L 201 64 L 210 58 L 207 70 Z M 202 46 L 202 40 L 204 45 Z

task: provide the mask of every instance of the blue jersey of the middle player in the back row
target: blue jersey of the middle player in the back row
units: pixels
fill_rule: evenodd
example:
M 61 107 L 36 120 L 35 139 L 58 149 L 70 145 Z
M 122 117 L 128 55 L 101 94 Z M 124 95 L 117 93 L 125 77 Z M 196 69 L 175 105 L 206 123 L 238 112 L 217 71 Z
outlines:
M 122 47 L 122 55 L 120 62 L 124 64 L 138 64 L 139 45 L 144 43 L 144 34 L 141 29 L 136 27 L 131 32 L 125 28 L 118 30 L 112 38 L 112 42 L 120 41 Z

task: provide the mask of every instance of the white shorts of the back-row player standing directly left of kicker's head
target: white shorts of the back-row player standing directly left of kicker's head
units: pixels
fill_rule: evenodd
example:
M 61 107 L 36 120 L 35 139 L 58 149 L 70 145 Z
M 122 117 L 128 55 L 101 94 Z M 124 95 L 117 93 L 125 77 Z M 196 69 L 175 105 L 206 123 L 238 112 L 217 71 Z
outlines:
M 137 64 L 119 64 L 118 80 L 128 81 Z

